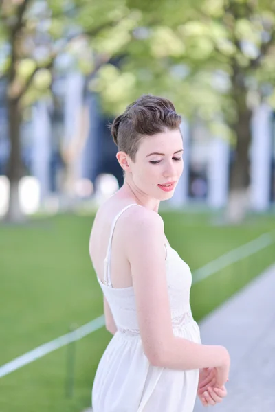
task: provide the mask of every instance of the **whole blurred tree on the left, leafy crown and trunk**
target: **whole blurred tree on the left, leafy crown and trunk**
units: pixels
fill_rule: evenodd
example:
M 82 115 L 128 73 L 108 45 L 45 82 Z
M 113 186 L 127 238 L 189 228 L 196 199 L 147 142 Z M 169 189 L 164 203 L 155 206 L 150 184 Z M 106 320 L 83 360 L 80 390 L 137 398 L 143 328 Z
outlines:
M 92 77 L 129 42 L 139 18 L 123 0 L 0 1 L 0 78 L 7 82 L 10 137 L 7 220 L 24 218 L 19 180 L 24 173 L 20 130 L 25 107 L 43 95 L 53 97 L 56 73 L 78 69 Z M 63 155 L 72 158 L 67 152 Z

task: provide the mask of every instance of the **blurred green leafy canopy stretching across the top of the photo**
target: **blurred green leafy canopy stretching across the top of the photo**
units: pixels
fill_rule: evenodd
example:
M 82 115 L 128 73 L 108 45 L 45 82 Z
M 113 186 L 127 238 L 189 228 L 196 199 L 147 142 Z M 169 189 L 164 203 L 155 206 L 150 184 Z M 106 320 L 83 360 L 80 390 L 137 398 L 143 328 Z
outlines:
M 2 47 L 19 12 L 4 3 Z M 275 105 L 274 32 L 274 1 L 36 0 L 24 14 L 16 80 L 30 83 L 22 100 L 28 105 L 48 93 L 54 73 L 78 68 L 97 73 L 89 87 L 108 113 L 155 93 L 170 97 L 187 117 L 197 113 L 213 122 L 218 116 L 230 126 L 241 110 L 236 78 L 244 95 L 239 102 Z M 9 52 L 3 54 L 0 76 L 11 64 Z

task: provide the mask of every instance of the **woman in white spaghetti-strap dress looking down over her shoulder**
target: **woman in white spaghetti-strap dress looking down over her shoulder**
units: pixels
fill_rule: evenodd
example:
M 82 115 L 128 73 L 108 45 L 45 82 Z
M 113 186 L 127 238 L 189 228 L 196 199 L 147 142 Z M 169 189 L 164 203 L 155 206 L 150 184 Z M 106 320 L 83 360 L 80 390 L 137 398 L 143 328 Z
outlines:
M 111 127 L 124 185 L 98 210 L 89 243 L 113 334 L 94 380 L 94 412 L 192 412 L 197 393 L 204 405 L 226 395 L 228 351 L 201 345 L 190 268 L 158 214 L 183 171 L 180 124 L 169 100 L 144 95 Z

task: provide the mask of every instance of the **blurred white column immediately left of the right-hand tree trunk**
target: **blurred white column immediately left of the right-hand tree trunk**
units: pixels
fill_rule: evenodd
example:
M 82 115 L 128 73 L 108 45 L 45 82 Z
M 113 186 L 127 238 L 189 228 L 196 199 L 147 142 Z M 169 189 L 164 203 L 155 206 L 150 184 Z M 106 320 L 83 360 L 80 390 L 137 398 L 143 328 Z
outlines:
M 228 198 L 229 155 L 228 141 L 213 137 L 210 141 L 208 163 L 208 205 L 223 207 Z

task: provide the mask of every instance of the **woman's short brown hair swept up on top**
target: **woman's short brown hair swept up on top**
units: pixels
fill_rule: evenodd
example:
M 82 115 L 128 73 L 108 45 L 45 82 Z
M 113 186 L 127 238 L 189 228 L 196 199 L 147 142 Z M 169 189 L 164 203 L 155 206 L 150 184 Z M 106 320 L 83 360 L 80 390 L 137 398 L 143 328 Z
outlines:
M 180 124 L 181 117 L 170 100 L 142 95 L 129 104 L 122 115 L 114 119 L 111 134 L 118 150 L 125 152 L 135 161 L 142 137 L 153 136 L 166 129 L 175 130 Z

